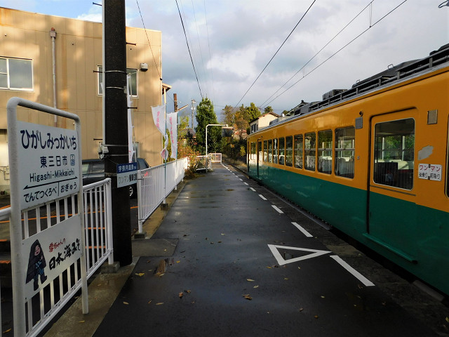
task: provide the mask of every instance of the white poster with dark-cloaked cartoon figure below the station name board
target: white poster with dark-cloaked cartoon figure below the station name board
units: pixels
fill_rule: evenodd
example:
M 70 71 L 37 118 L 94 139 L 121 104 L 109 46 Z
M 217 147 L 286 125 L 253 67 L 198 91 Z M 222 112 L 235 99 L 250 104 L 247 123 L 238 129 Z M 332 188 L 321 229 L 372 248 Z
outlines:
M 22 241 L 25 298 L 32 298 L 81 258 L 81 218 L 67 218 Z

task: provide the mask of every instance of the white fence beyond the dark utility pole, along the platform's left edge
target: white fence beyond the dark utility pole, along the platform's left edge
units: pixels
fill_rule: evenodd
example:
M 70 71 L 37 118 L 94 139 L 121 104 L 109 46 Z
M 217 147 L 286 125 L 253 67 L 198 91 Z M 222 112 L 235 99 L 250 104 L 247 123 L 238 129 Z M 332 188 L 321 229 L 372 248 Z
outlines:
M 186 157 L 138 171 L 139 233 L 143 232 L 145 220 L 156 211 L 184 178 L 187 163 Z

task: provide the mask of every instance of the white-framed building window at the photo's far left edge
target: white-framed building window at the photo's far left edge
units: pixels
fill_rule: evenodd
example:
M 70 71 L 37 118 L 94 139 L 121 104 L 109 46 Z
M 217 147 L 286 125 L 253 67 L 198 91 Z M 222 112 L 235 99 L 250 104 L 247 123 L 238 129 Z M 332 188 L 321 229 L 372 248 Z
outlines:
M 32 60 L 0 58 L 0 88 L 33 90 Z

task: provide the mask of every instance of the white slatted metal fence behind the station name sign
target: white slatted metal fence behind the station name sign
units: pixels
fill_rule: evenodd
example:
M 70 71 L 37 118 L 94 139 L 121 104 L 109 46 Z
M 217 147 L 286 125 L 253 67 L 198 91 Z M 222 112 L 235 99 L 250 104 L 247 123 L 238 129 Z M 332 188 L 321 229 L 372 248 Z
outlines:
M 81 288 L 81 274 L 83 272 L 86 272 L 87 277 L 91 277 L 105 260 L 109 259 L 109 263 L 114 262 L 114 256 L 112 255 L 112 219 L 109 211 L 111 209 L 111 180 L 108 178 L 84 186 L 83 203 L 87 270 L 81 270 L 81 257 L 75 263 L 69 265 L 59 277 L 44 286 L 39 293 L 25 301 L 27 336 L 37 336 L 74 296 Z M 62 220 L 71 218 L 78 213 L 78 209 L 76 197 L 72 195 L 44 206 L 36 206 L 23 211 L 23 239 L 42 232 Z M 9 220 L 10 215 L 11 208 L 0 210 L 0 220 Z M 55 245 L 58 244 L 61 243 L 55 242 Z M 47 261 L 47 265 L 50 263 L 51 261 Z M 12 277 L 14 278 L 14 275 Z M 12 291 L 14 291 L 14 283 Z M 9 302 L 0 307 L 0 326 L 2 328 L 0 329 L 0 336 L 2 331 L 8 331 L 8 336 L 13 336 L 11 331 L 13 327 L 13 308 L 11 308 L 11 305 L 12 303 Z M 18 335 L 15 334 L 15 336 Z

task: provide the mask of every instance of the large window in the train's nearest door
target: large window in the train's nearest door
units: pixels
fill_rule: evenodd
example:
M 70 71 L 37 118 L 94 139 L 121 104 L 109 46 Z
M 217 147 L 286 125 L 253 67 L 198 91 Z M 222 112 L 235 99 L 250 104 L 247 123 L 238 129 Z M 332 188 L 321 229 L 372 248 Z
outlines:
M 415 164 L 415 120 L 386 121 L 374 129 L 374 182 L 411 190 Z

